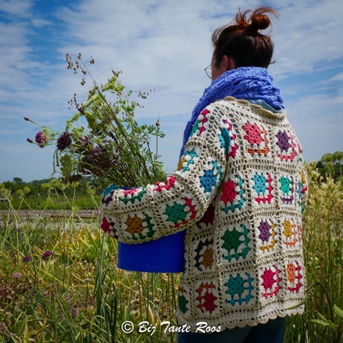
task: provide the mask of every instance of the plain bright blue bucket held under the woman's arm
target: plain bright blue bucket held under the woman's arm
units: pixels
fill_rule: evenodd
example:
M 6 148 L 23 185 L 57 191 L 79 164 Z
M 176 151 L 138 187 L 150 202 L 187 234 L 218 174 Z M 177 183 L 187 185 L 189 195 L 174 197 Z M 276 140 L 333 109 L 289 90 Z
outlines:
M 141 244 L 118 241 L 118 268 L 136 272 L 183 271 L 185 231 Z

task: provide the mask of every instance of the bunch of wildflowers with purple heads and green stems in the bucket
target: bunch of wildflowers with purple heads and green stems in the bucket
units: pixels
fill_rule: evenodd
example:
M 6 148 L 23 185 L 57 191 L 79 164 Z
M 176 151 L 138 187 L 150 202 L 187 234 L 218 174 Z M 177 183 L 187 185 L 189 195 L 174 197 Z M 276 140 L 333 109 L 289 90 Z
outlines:
M 67 54 L 66 60 L 68 69 L 74 74 L 78 71 L 84 75 L 89 73 L 81 54 L 75 61 Z M 90 63 L 94 63 L 93 58 Z M 93 79 L 93 88 L 83 104 L 78 104 L 74 94 L 69 106 L 75 106 L 78 112 L 67 120 L 62 131 L 25 117 L 25 120 L 40 126 L 35 141 L 27 141 L 39 147 L 56 144 L 54 166 L 60 167 L 64 182 L 92 176 L 121 187 L 133 187 L 165 177 L 157 154 L 158 137 L 164 136 L 159 120 L 155 125 L 137 123 L 134 111 L 141 105 L 132 100 L 133 91 L 125 91 L 119 81 L 120 73 L 112 71 L 112 77 L 101 86 Z M 85 83 L 83 77 L 82 86 Z M 142 92 L 135 94 L 141 99 L 148 95 Z M 152 152 L 150 147 L 152 139 L 156 140 L 156 152 Z

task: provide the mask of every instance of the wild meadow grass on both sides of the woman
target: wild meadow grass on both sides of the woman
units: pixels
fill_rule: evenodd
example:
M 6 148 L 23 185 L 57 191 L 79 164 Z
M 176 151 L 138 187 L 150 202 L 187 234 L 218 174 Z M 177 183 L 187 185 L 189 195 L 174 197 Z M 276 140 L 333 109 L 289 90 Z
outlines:
M 321 180 L 313 166 L 309 174 L 307 301 L 305 314 L 287 318 L 285 342 L 340 342 L 342 180 Z M 95 211 L 97 204 L 93 198 Z M 25 198 L 7 206 L 0 217 L 0 342 L 176 342 L 161 322 L 176 325 L 179 274 L 119 270 L 117 242 L 99 230 L 96 215 L 75 216 L 73 200 L 49 218 L 45 209 L 19 215 L 21 206 L 30 209 Z M 134 330 L 123 333 L 128 320 Z

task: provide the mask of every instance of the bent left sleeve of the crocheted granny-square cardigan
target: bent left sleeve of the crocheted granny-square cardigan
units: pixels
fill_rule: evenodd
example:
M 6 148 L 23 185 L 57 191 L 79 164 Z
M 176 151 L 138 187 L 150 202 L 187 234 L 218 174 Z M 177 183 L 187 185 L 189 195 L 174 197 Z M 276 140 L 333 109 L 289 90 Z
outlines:
M 102 196 L 102 228 L 127 244 L 158 239 L 201 219 L 220 186 L 230 152 L 230 125 L 207 106 L 194 123 L 178 170 L 154 185 L 118 189 Z

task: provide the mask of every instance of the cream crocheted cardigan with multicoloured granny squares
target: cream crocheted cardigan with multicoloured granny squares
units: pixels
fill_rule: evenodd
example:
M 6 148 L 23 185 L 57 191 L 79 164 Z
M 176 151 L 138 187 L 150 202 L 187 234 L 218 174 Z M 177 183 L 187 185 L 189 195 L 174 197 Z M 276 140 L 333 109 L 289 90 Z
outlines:
M 285 111 L 226 97 L 202 110 L 167 180 L 104 192 L 102 228 L 128 244 L 186 230 L 178 324 L 254 326 L 303 312 L 306 198 Z

